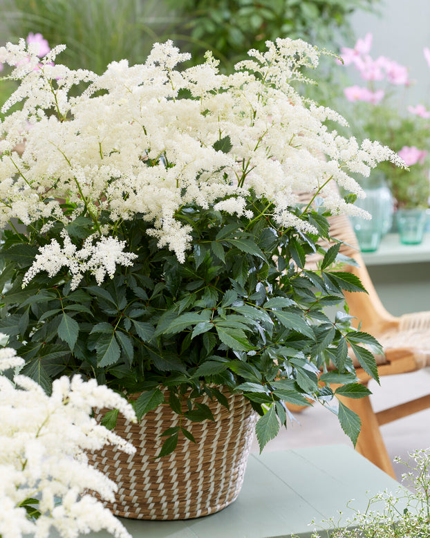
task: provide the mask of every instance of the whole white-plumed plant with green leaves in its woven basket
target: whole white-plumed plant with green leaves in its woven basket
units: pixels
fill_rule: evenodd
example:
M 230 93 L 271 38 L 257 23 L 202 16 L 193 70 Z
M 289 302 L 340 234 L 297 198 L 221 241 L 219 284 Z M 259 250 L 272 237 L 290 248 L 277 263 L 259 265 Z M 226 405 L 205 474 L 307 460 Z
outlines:
M 210 53 L 179 71 L 189 56 L 169 41 L 144 64 L 113 62 L 100 76 L 54 65 L 62 48 L 43 59 L 24 39 L 0 48 L 21 80 L 2 109 L 0 329 L 47 392 L 80 373 L 133 401 L 141 459 L 131 477 L 131 460 L 104 467 L 123 490 L 114 512 L 223 508 L 239 492 L 255 412 L 262 449 L 287 424 L 284 402 L 330 407 L 355 443 L 359 418 L 332 404 L 368 394 L 348 346 L 374 378 L 364 345 L 379 347 L 348 315 L 324 312 L 344 304 L 343 290 L 363 291 L 339 270 L 326 217 L 363 213 L 348 171 L 400 158 L 330 131 L 326 120 L 342 118 L 301 100 L 291 82 L 306 80 L 300 68 L 315 67 L 318 52 L 300 40 L 268 42 L 228 76 Z M 76 84 L 84 90 L 70 97 Z M 131 425 L 116 427 L 131 436 Z

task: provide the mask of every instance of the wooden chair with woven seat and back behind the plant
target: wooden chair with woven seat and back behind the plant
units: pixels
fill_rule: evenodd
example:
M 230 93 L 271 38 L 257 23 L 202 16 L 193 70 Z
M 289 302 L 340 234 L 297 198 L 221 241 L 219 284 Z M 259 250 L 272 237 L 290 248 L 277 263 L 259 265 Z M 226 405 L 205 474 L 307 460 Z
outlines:
M 379 375 L 406 374 L 430 366 L 430 311 L 400 317 L 388 313 L 368 275 L 348 217 L 333 216 L 329 220 L 330 234 L 346 243 L 342 245 L 341 252 L 355 259 L 359 265 L 347 266 L 342 270 L 357 275 L 368 291 L 368 294 L 345 293 L 345 297 L 350 315 L 357 318 L 355 323 L 361 322 L 362 330 L 375 336 L 383 346 L 384 355 L 376 358 Z M 367 384 L 371 377 L 358 363 L 356 371 L 359 380 Z M 380 426 L 427 409 L 430 407 L 430 394 L 379 413 L 373 411 L 368 397 L 359 400 L 346 398 L 344 403 L 362 420 L 357 451 L 395 478 Z

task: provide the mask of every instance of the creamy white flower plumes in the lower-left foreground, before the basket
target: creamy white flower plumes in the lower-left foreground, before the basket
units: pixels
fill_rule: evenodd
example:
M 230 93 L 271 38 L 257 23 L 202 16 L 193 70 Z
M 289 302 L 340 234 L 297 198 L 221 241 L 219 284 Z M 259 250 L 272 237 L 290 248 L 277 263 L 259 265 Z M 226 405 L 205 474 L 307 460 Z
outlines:
M 0 350 L 0 371 L 22 362 L 15 350 Z M 54 381 L 51 396 L 25 375 L 16 375 L 14 382 L 0 375 L 1 537 L 44 538 L 53 527 L 64 538 L 102 529 L 130 538 L 110 510 L 86 494 L 93 490 L 113 501 L 117 485 L 88 465 L 85 451 L 111 444 L 133 454 L 133 446 L 90 417 L 93 407 L 113 407 L 135 420 L 131 405 L 79 375 Z M 24 504 L 35 498 L 41 515 L 31 521 Z

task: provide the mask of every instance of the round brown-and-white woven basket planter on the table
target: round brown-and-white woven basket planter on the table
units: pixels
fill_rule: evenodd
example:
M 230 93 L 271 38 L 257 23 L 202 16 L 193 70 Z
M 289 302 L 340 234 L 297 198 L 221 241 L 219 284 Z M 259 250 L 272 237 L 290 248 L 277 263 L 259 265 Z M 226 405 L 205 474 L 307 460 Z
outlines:
M 199 399 L 211 408 L 215 422 L 183 419 L 196 439 L 180 436 L 176 450 L 155 459 L 168 427 L 178 425 L 178 415 L 160 405 L 140 424 L 118 417 L 115 432 L 136 447 L 134 456 L 106 447 L 90 454 L 90 462 L 118 484 L 115 503 L 106 503 L 113 514 L 131 519 L 190 519 L 218 512 L 236 499 L 243 483 L 256 414 L 241 395 L 225 396 L 230 413 L 217 400 Z M 97 420 L 102 418 L 96 412 Z

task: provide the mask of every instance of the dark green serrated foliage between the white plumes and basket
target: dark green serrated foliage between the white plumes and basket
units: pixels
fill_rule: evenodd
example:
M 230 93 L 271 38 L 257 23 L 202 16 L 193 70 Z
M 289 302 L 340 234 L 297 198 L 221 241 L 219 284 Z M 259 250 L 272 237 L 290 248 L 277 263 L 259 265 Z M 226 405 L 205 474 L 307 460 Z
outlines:
M 261 448 L 286 424 L 284 401 L 308 405 L 309 399 L 366 396 L 348 344 L 377 378 L 373 355 L 363 346 L 375 349 L 377 342 L 355 331 L 348 315 L 332 321 L 324 313 L 326 306 L 342 307 L 342 290 L 363 290 L 356 277 L 334 270 L 339 245 L 326 252 L 317 247 L 318 236 L 279 228 L 267 216 L 268 201 L 250 195 L 248 202 L 251 220 L 184 207 L 177 218 L 194 230 L 185 263 L 158 248 L 143 219 L 123 223 L 118 239 L 138 259 L 102 286 L 87 275 L 76 290 L 65 272 L 51 279 L 39 273 L 23 289 L 37 247 L 48 242 L 37 231 L 43 223 L 25 236 L 6 231 L 0 278 L 10 279 L 10 287 L 0 331 L 26 360 L 24 373 L 46 391 L 54 378 L 81 373 L 117 391 L 141 393 L 134 402 L 139 418 L 167 400 L 178 417 L 213 420 L 195 398 L 207 392 L 226 405 L 212 384 L 243 391 L 262 416 L 256 430 Z M 318 223 L 327 236 L 323 207 L 301 218 Z M 61 241 L 57 230 L 49 234 Z M 87 234 L 88 219 L 77 219 L 72 239 L 78 248 Z M 303 269 L 315 249 L 321 251 L 319 270 Z M 328 371 L 329 364 L 335 370 Z M 320 378 L 321 369 L 326 373 Z M 333 395 L 330 382 L 344 387 Z M 342 427 L 356 440 L 358 418 L 339 409 Z M 112 427 L 115 417 L 104 422 Z M 160 455 L 176 446 L 179 435 L 191 438 L 182 426 L 167 432 Z

